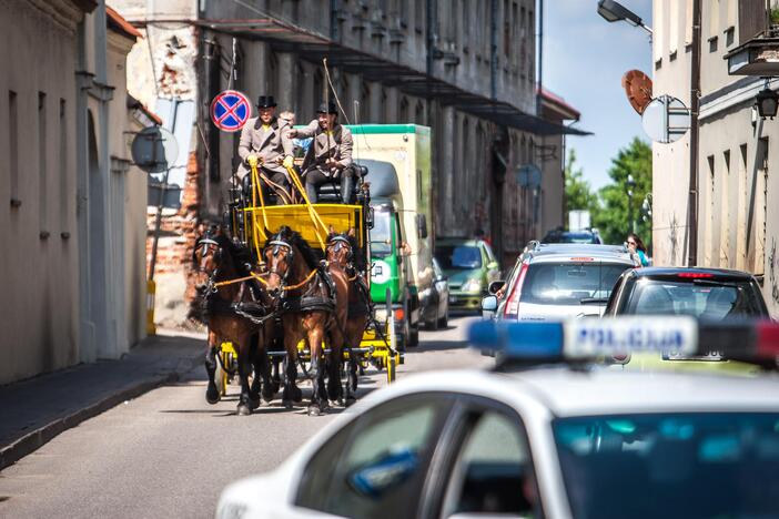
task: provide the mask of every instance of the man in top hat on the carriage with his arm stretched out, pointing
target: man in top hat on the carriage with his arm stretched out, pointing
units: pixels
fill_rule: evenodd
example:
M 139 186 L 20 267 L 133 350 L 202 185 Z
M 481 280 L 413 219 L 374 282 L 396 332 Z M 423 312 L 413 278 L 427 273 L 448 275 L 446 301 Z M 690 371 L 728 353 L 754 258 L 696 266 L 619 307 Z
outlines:
M 352 203 L 352 132 L 338 124 L 335 103 L 322 103 L 316 111 L 316 120 L 302 130 L 291 130 L 290 138 L 314 139 L 302 167 L 308 200 L 316 203 L 320 185 L 335 182 L 341 183 L 341 197 L 344 203 Z

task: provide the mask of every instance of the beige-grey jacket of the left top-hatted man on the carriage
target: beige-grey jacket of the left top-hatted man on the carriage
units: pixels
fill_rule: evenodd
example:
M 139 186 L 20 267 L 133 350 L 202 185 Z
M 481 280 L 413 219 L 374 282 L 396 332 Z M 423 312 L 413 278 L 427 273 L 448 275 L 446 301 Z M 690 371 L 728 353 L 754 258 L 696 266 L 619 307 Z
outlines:
M 239 155 L 241 165 L 237 169 L 239 179 L 243 179 L 251 171 L 246 163 L 250 153 L 260 157 L 260 163 L 266 170 L 274 173 L 286 173 L 281 165 L 281 161 L 286 156 L 292 156 L 292 140 L 286 132 L 290 130 L 285 121 L 275 119 L 271 123 L 270 131 L 262 128 L 260 118 L 250 119 L 241 130 L 241 142 L 239 143 Z

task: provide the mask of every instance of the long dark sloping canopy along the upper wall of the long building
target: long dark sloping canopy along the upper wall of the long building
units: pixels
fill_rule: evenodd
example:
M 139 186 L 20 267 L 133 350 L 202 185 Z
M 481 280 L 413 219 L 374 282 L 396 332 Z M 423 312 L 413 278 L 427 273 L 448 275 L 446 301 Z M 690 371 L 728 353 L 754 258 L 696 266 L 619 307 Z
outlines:
M 242 20 L 199 20 L 200 27 L 239 38 L 267 41 L 282 52 L 295 52 L 313 62 L 327 58 L 327 63 L 348 73 L 357 73 L 367 81 L 396 86 L 409 95 L 436 99 L 445 105 L 497 124 L 538 135 L 591 135 L 523 112 L 510 103 L 490 100 L 444 80 L 428 75 L 382 57 L 336 43 L 326 37 L 272 17 Z

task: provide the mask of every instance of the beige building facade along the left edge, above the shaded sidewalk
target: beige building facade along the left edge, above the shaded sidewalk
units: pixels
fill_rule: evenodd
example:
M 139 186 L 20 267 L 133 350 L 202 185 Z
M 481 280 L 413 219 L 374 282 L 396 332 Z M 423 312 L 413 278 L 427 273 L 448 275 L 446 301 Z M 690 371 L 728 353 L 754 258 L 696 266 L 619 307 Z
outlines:
M 0 7 L 3 48 L 13 49 L 0 57 L 6 384 L 117 358 L 140 338 L 131 320 L 145 299 L 143 256 L 125 228 L 139 223 L 145 179 L 129 166 L 124 133 L 134 30 L 91 0 Z

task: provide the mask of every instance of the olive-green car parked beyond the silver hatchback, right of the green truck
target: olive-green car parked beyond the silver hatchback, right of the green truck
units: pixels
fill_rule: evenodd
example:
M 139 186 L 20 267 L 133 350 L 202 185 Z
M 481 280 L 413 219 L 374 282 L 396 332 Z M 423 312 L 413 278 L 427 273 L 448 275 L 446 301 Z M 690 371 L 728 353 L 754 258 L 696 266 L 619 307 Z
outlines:
M 489 283 L 499 276 L 498 262 L 483 240 L 442 238 L 435 257 L 449 277 L 449 306 L 477 311 Z

